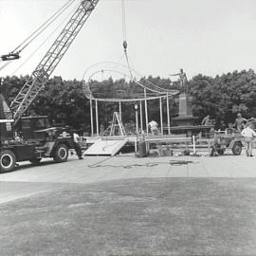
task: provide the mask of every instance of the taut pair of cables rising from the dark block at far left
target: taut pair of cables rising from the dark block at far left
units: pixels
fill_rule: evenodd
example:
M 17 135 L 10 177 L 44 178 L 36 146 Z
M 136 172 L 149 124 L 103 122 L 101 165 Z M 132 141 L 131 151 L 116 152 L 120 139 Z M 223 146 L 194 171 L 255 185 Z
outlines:
M 54 14 L 49 17 L 46 22 L 32 32 L 27 39 L 25 39 L 19 46 L 14 48 L 10 53 L 20 53 L 24 50 L 32 41 L 34 41 L 43 31 L 46 30 L 63 12 L 68 9 L 76 0 L 68 0 L 61 9 L 58 9 Z M 28 41 L 28 42 L 27 42 Z

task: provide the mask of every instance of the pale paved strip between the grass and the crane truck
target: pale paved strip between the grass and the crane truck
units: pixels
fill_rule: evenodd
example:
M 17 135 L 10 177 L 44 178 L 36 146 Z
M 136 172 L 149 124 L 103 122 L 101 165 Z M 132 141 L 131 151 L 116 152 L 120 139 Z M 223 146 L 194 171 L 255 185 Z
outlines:
M 134 155 L 119 155 L 86 156 L 83 160 L 71 156 L 61 164 L 52 163 L 51 160 L 37 167 L 22 163 L 15 172 L 0 175 L 0 203 L 47 192 L 64 184 L 141 177 L 256 177 L 256 156 L 135 158 Z

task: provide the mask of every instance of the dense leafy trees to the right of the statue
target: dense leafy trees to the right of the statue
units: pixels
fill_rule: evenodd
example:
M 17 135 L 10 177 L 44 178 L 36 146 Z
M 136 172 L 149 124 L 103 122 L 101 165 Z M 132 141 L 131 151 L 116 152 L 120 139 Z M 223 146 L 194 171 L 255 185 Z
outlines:
M 238 112 L 245 118 L 256 117 L 256 74 L 252 69 L 216 76 L 198 75 L 190 81 L 192 110 L 196 116 L 207 114 L 226 123 Z

